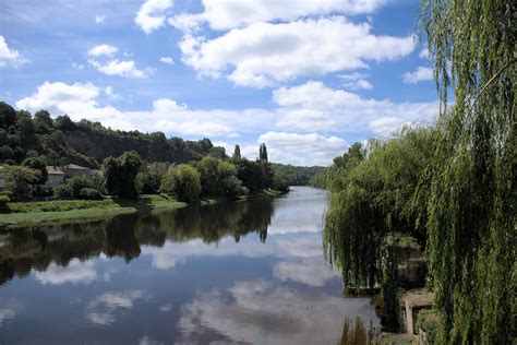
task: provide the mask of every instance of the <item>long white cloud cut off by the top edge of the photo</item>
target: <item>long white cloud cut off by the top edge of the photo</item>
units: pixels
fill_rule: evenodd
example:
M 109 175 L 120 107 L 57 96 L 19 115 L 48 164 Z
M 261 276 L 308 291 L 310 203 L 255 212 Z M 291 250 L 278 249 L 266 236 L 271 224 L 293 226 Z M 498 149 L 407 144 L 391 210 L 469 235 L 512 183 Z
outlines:
M 214 29 L 226 31 L 257 22 L 293 21 L 306 15 L 372 13 L 385 3 L 387 0 L 203 0 L 202 13 L 182 13 L 169 22 L 180 28 L 207 22 Z

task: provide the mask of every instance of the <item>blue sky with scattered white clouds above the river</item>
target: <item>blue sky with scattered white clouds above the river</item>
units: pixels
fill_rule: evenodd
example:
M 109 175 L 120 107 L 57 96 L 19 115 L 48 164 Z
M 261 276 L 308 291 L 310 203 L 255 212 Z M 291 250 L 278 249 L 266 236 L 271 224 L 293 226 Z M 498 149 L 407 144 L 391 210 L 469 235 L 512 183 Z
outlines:
M 0 0 L 0 100 L 329 165 L 431 123 L 418 0 Z

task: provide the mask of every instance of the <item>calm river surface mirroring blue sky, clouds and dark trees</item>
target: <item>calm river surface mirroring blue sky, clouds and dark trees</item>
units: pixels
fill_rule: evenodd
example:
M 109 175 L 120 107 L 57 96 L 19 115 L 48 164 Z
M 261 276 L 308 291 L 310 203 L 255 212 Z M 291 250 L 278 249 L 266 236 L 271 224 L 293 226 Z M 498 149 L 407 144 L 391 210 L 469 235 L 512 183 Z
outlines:
M 0 231 L 1 344 L 336 344 L 326 192 Z

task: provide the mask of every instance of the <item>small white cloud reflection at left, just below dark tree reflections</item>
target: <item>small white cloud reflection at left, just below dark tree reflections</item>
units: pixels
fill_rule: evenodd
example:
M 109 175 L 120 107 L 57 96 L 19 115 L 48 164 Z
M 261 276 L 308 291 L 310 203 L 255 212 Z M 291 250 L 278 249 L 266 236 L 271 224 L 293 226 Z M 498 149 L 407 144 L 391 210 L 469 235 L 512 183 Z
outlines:
M 92 261 L 81 262 L 73 259 L 67 266 L 52 262 L 45 272 L 36 272 L 35 277 L 44 285 L 89 284 L 97 278 L 97 273 Z

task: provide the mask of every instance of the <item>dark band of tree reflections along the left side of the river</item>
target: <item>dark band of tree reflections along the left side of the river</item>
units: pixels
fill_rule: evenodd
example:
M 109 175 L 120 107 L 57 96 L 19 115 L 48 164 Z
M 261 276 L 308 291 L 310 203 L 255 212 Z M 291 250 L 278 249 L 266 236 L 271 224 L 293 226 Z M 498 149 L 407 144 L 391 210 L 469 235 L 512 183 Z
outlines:
M 189 206 L 157 214 L 131 214 L 72 225 L 55 225 L 0 231 L 0 284 L 26 276 L 32 269 L 46 271 L 51 262 L 67 266 L 72 259 L 98 257 L 137 258 L 141 246 L 164 246 L 166 239 L 205 242 L 232 236 L 236 241 L 257 233 L 265 241 L 273 216 L 268 199 Z

